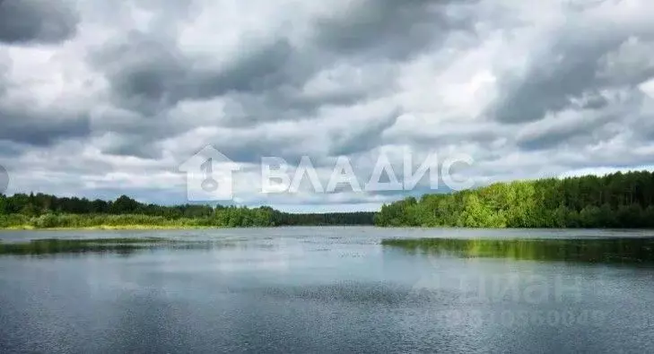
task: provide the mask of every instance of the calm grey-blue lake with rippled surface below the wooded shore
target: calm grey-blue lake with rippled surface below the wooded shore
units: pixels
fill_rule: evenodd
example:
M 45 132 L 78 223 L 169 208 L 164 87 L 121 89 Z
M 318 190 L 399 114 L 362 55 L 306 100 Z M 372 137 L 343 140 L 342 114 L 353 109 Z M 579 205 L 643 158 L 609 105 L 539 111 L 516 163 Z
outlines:
M 0 352 L 654 352 L 649 237 L 0 231 Z

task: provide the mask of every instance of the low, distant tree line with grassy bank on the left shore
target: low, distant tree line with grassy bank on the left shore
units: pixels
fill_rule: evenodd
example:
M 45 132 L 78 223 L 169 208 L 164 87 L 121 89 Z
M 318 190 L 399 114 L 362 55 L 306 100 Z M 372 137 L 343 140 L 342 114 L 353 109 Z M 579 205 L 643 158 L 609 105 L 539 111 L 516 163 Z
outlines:
M 0 194 L 0 229 L 177 229 L 313 225 L 371 225 L 373 212 L 294 214 L 270 207 L 246 208 L 139 203 L 49 194 Z

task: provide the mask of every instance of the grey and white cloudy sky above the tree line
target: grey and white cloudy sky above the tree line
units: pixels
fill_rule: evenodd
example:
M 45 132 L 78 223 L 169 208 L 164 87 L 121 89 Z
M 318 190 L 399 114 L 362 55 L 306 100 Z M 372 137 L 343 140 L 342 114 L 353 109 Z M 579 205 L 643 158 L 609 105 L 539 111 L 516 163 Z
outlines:
M 471 156 L 458 174 L 478 185 L 650 169 L 651 13 L 649 0 L 0 0 L 7 193 L 185 203 L 179 164 L 207 144 L 240 166 L 236 203 L 292 211 L 402 193 L 261 194 L 262 157 L 309 156 L 325 185 L 339 156 L 364 185 L 400 151 Z

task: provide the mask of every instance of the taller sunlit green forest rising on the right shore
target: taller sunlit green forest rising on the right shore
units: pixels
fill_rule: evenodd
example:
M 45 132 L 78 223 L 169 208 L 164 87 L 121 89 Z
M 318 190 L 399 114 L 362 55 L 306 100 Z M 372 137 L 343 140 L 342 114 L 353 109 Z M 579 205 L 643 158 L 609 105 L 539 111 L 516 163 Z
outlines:
M 382 227 L 654 228 L 654 174 L 547 178 L 384 205 Z

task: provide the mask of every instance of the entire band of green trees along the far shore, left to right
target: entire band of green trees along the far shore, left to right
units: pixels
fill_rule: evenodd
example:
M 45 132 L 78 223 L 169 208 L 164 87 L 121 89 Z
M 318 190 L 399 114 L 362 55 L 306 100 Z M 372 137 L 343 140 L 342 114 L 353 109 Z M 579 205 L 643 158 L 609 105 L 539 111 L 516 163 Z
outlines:
M 0 229 L 204 229 L 376 225 L 379 227 L 654 229 L 654 173 L 495 183 L 425 194 L 380 212 L 288 213 L 270 207 L 139 203 L 48 194 L 0 194 Z

